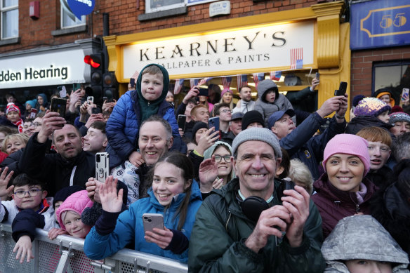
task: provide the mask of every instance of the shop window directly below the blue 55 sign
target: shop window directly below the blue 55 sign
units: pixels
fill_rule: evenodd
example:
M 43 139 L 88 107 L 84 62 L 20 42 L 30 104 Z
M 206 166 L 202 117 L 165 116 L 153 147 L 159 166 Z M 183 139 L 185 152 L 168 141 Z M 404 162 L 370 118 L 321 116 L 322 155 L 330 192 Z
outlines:
M 372 93 L 385 87 L 390 88 L 399 105 L 403 88 L 410 88 L 410 60 L 373 64 Z

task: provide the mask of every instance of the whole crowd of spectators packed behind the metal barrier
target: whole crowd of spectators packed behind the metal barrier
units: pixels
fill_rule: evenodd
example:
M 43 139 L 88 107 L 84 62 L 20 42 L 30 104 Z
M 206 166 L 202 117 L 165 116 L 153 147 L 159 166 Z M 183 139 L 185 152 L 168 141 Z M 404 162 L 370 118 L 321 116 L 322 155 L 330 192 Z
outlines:
M 65 116 L 45 94 L 25 107 L 8 95 L 0 220 L 16 258 L 33 258 L 42 228 L 84 239 L 93 260 L 132 248 L 190 272 L 409 272 L 409 98 L 356 96 L 346 121 L 347 94 L 305 111 L 318 85 L 283 95 L 265 79 L 236 104 L 229 88 L 194 86 L 174 105 L 151 64 L 99 114 L 84 86 Z M 163 226 L 145 229 L 146 215 Z

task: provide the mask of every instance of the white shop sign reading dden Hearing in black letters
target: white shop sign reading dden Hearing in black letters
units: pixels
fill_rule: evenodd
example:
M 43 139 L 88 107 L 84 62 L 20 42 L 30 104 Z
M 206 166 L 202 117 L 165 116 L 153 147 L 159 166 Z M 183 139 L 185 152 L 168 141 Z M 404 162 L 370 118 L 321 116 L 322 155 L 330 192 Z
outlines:
M 0 58 L 0 89 L 84 83 L 81 49 Z

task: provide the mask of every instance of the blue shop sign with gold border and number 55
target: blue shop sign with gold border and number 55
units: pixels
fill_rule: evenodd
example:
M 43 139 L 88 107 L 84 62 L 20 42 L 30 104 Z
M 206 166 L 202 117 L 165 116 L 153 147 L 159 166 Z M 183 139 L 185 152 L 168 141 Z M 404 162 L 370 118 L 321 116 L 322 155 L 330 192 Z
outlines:
M 376 0 L 351 5 L 350 48 L 410 44 L 409 0 Z

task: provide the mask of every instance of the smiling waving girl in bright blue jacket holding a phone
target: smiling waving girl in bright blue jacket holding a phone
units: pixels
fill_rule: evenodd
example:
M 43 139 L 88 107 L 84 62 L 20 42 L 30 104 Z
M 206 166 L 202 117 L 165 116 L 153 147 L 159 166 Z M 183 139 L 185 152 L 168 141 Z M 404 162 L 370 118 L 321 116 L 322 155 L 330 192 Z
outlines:
M 153 168 L 150 197 L 138 199 L 121 214 L 122 189 L 117 194 L 117 180 L 107 178 L 100 187 L 102 215 L 84 242 L 87 257 L 100 260 L 133 243 L 136 251 L 187 262 L 194 217 L 201 205 L 192 169 L 185 155 L 166 155 Z M 144 213 L 163 215 L 164 229 L 144 232 Z

